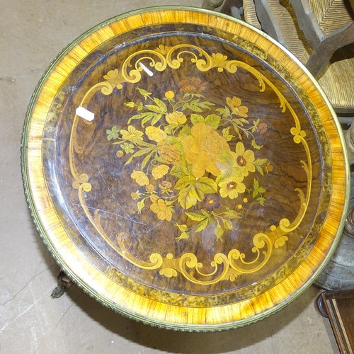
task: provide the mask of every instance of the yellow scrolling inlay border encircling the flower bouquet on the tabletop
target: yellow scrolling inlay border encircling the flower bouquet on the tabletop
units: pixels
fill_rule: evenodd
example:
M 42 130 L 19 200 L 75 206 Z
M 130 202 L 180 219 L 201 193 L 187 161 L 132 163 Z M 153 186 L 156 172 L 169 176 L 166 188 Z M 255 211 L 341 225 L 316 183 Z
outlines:
M 159 270 L 159 274 L 166 277 L 176 277 L 178 274 L 180 274 L 190 282 L 199 285 L 211 285 L 221 280 L 234 281 L 236 277 L 241 274 L 257 272 L 263 268 L 266 263 L 268 263 L 273 249 L 278 249 L 279 247 L 282 247 L 286 244 L 287 234 L 299 227 L 299 224 L 302 222 L 302 219 L 307 212 L 307 207 L 309 205 L 309 195 L 312 188 L 312 161 L 309 146 L 305 139 L 306 133 L 301 129 L 299 118 L 297 117 L 295 111 L 292 109 L 290 103 L 287 102 L 282 93 L 268 78 L 263 76 L 261 72 L 258 72 L 257 69 L 251 67 L 245 62 L 227 59 L 227 56 L 222 55 L 221 53 L 212 53 L 210 55 L 209 53 L 205 52 L 205 50 L 202 50 L 200 47 L 195 45 L 181 44 L 174 47 L 165 47 L 164 45 L 160 45 L 158 48 L 156 48 L 156 50 L 141 50 L 139 52 L 135 52 L 134 54 L 127 57 L 127 59 L 125 59 L 120 70 L 110 70 L 104 76 L 105 81 L 99 82 L 98 84 L 92 86 L 91 89 L 86 92 L 84 98 L 82 98 L 80 105 L 84 108 L 87 107 L 91 98 L 96 95 L 96 93 L 99 94 L 100 91 L 103 95 L 110 95 L 113 93 L 114 89 L 122 89 L 122 84 L 124 83 L 138 83 L 142 79 L 142 74 L 145 74 L 143 70 L 144 65 L 141 65 L 143 60 L 145 64 L 147 61 L 149 61 L 149 66 L 157 72 L 163 72 L 167 67 L 171 69 L 180 68 L 181 63 L 186 58 L 189 59 L 191 63 L 195 64 L 195 67 L 200 70 L 200 72 L 207 72 L 212 69 L 216 69 L 217 72 L 223 72 L 226 70 L 230 74 L 234 74 L 239 68 L 245 69 L 258 80 L 259 91 L 265 91 L 266 86 L 270 87 L 270 89 L 274 91 L 274 93 L 279 98 L 280 109 L 282 113 L 285 113 L 285 110 L 290 111 L 295 123 L 295 125 L 290 129 L 290 133 L 293 136 L 293 141 L 295 144 L 302 144 L 304 152 L 307 156 L 307 161 L 300 161 L 302 168 L 307 174 L 307 190 L 304 193 L 303 190 L 299 188 L 296 189 L 299 195 L 301 206 L 299 207 L 297 217 L 295 217 L 294 220 L 290 221 L 284 217 L 280 219 L 278 226 L 276 224 L 272 224 L 265 231 L 255 234 L 253 236 L 253 247 L 251 248 L 251 254 L 249 255 L 247 255 L 246 252 L 240 251 L 239 249 L 232 249 L 227 254 L 216 253 L 212 260 L 210 260 L 210 266 L 213 269 L 210 273 L 204 273 L 202 271 L 203 264 L 198 261 L 197 256 L 195 256 L 193 253 L 184 253 L 179 257 L 174 257 L 172 253 L 167 253 L 165 256 L 163 256 L 156 252 L 149 256 L 149 260 L 143 261 L 132 255 L 132 253 L 127 250 L 125 245 L 124 232 L 120 232 L 118 238 L 113 241 L 113 239 L 111 239 L 105 233 L 105 230 L 101 226 L 98 210 L 92 212 L 86 205 L 84 193 L 89 193 L 92 189 L 92 185 L 89 183 L 89 176 L 86 173 L 80 173 L 77 171 L 75 165 L 75 153 L 80 154 L 82 151 L 76 140 L 76 128 L 79 120 L 81 119 L 77 115 L 75 115 L 73 120 L 69 142 L 69 164 L 72 176 L 74 178 L 72 187 L 78 191 L 79 201 L 83 207 L 84 212 L 86 213 L 93 227 L 95 227 L 97 232 L 101 234 L 105 242 L 118 254 L 120 254 L 120 256 L 139 268 L 145 270 Z M 143 95 L 145 92 L 147 92 L 143 89 L 140 89 L 139 91 Z M 171 91 L 168 91 L 166 92 L 165 96 L 166 100 L 171 101 L 173 99 L 174 93 L 172 96 Z M 155 103 L 157 102 L 154 100 L 154 98 L 152 98 L 152 100 Z M 229 101 L 229 108 L 232 108 L 232 98 L 229 98 L 229 100 L 231 100 Z M 237 99 L 234 101 L 234 103 L 236 101 Z M 133 106 L 135 103 L 130 104 Z M 241 104 L 241 101 L 239 104 Z M 85 120 L 83 121 L 86 124 L 91 124 L 91 122 L 87 122 Z M 128 147 L 127 150 L 129 152 Z M 195 172 L 195 174 L 198 178 L 200 177 L 198 172 Z M 214 183 L 217 182 L 218 181 Z M 152 198 L 154 199 L 153 195 Z M 156 198 L 155 200 L 152 200 L 152 202 L 154 201 L 156 202 Z M 188 207 L 185 206 L 185 209 L 188 209 Z M 159 215 L 157 216 L 159 217 Z M 159 219 L 169 220 L 166 215 L 165 217 L 159 217 Z M 183 226 L 185 225 L 179 225 L 179 227 Z M 180 228 L 180 230 L 183 231 L 183 228 Z M 215 232 L 215 235 L 217 236 L 217 232 Z

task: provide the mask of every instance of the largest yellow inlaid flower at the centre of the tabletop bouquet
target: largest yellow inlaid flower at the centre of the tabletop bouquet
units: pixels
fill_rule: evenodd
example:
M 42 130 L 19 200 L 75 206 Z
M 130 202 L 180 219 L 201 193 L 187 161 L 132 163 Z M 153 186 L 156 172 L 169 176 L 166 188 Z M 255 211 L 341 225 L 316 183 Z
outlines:
M 205 171 L 219 176 L 217 167 L 222 150 L 229 152 L 229 144 L 222 135 L 205 122 L 199 122 L 190 130 L 192 135 L 183 139 L 185 159 L 193 165 L 193 176 L 200 178 Z

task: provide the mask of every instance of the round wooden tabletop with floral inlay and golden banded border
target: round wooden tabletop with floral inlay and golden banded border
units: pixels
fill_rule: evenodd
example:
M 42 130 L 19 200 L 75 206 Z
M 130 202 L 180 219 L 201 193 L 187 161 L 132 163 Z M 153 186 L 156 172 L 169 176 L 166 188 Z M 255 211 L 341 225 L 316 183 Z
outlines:
M 316 81 L 267 35 L 195 8 L 127 13 L 69 45 L 30 101 L 22 163 L 70 278 L 169 329 L 278 311 L 346 216 L 343 137 Z

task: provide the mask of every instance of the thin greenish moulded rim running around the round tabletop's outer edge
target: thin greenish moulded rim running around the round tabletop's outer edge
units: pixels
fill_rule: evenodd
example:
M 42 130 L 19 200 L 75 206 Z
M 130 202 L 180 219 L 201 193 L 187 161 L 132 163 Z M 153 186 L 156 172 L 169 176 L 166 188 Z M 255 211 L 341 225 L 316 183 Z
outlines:
M 270 40 L 270 42 L 273 42 L 275 45 L 280 47 L 284 52 L 289 55 L 294 62 L 296 62 L 299 67 L 302 68 L 302 70 L 307 74 L 309 79 L 312 80 L 314 85 L 316 86 L 316 89 L 321 93 L 321 96 L 324 97 L 324 101 L 326 104 L 329 106 L 329 109 L 331 110 L 331 113 L 333 115 L 334 122 L 336 123 L 336 127 L 338 129 L 338 135 L 341 139 L 342 147 L 343 147 L 343 153 L 344 153 L 344 160 L 345 160 L 345 168 L 346 168 L 346 198 L 345 198 L 345 204 L 343 206 L 343 215 L 341 217 L 341 222 L 339 224 L 336 237 L 333 241 L 333 244 L 331 246 L 331 249 L 329 250 L 329 253 L 327 253 L 326 257 L 324 258 L 324 261 L 321 263 L 321 266 L 317 268 L 316 272 L 307 280 L 307 282 L 302 285 L 302 287 L 299 288 L 299 290 L 295 291 L 290 297 L 287 297 L 287 299 L 284 299 L 283 302 L 280 304 L 276 305 L 275 307 L 272 307 L 271 309 L 265 310 L 264 312 L 261 312 L 260 314 L 256 314 L 255 316 L 249 318 L 249 319 L 244 319 L 244 320 L 239 320 L 239 321 L 233 321 L 225 324 L 217 324 L 217 325 L 208 325 L 208 324 L 175 324 L 175 323 L 169 323 L 169 322 L 164 322 L 164 321 L 158 321 L 155 319 L 152 319 L 147 316 L 142 316 L 140 314 L 137 314 L 135 312 L 129 311 L 125 309 L 124 307 L 120 306 L 119 304 L 115 304 L 108 300 L 106 297 L 98 294 L 98 292 L 94 291 L 89 285 L 84 283 L 80 278 L 78 278 L 72 270 L 69 268 L 69 266 L 65 263 L 64 259 L 59 255 L 57 250 L 55 250 L 54 246 L 52 245 L 50 239 L 47 236 L 47 232 L 45 231 L 45 228 L 42 225 L 42 222 L 40 221 L 40 217 L 38 215 L 38 211 L 36 210 L 36 207 L 33 202 L 32 198 L 32 193 L 30 190 L 30 185 L 28 184 L 28 160 L 27 160 L 27 137 L 28 137 L 28 127 L 30 125 L 30 117 L 31 114 L 33 113 L 33 108 L 35 107 L 35 102 L 37 101 L 38 94 L 40 93 L 43 84 L 45 83 L 47 77 L 52 73 L 52 70 L 55 68 L 57 62 L 59 62 L 62 57 L 67 55 L 67 53 L 72 50 L 72 48 L 82 39 L 86 38 L 87 35 L 91 35 L 91 33 L 95 32 L 98 30 L 98 28 L 102 28 L 105 25 L 109 25 L 110 23 L 113 23 L 115 21 L 118 21 L 122 18 L 126 18 L 128 16 L 136 15 L 138 13 L 144 13 L 144 12 L 149 12 L 149 11 L 164 11 L 164 10 L 183 10 L 183 11 L 195 11 L 195 12 L 202 12 L 202 13 L 209 13 L 210 15 L 221 17 L 221 18 L 226 18 L 227 20 L 234 21 L 236 23 L 240 23 L 241 25 L 244 25 L 251 30 L 254 30 L 256 33 L 262 35 L 264 38 L 267 38 Z M 119 314 L 122 314 L 123 316 L 126 316 L 129 319 L 134 319 L 135 321 L 140 321 L 143 324 L 148 324 L 150 326 L 156 326 L 161 329 L 169 329 L 169 330 L 174 330 L 174 331 L 188 331 L 188 332 L 212 332 L 212 331 L 224 331 L 227 329 L 236 329 L 242 326 L 246 326 L 248 324 L 253 324 L 256 321 L 259 321 L 261 319 L 265 319 L 268 316 L 275 314 L 276 312 L 279 312 L 281 309 L 287 306 L 287 304 L 290 304 L 293 300 L 295 300 L 299 295 L 302 295 L 302 293 L 307 290 L 307 288 L 312 285 L 314 280 L 316 280 L 317 276 L 324 270 L 326 267 L 327 263 L 329 262 L 331 256 L 333 255 L 333 252 L 336 250 L 336 247 L 338 246 L 338 242 L 341 239 L 341 233 L 343 231 L 344 224 L 346 222 L 346 215 L 348 212 L 348 205 L 349 205 L 349 196 L 350 196 L 350 169 L 349 169 L 349 162 L 348 162 L 348 155 L 347 155 L 347 150 L 346 150 L 346 144 L 345 140 L 343 137 L 343 132 L 341 130 L 341 125 L 338 121 L 338 118 L 336 117 L 336 113 L 334 112 L 331 103 L 329 102 L 329 99 L 326 97 L 326 94 L 324 91 L 321 89 L 321 86 L 319 86 L 318 82 L 312 74 L 307 70 L 306 67 L 304 67 L 304 64 L 295 57 L 287 48 L 283 47 L 278 43 L 276 40 L 271 38 L 269 35 L 263 33 L 261 30 L 258 30 L 258 28 L 253 27 L 253 25 L 250 25 L 249 23 L 239 21 L 236 18 L 233 18 L 231 16 L 225 15 L 223 13 L 217 13 L 215 11 L 210 11 L 210 10 L 205 10 L 202 8 L 195 8 L 191 6 L 154 6 L 154 7 L 148 7 L 148 8 L 141 8 L 135 11 L 130 11 L 127 13 L 122 13 L 118 16 L 115 16 L 113 18 L 108 19 L 107 21 L 103 21 L 102 23 L 94 26 L 90 30 L 87 30 L 85 33 L 80 35 L 76 40 L 71 42 L 67 47 L 65 47 L 62 52 L 59 52 L 59 55 L 53 59 L 53 61 L 50 63 L 49 67 L 45 70 L 45 73 L 42 75 L 42 78 L 38 82 L 35 91 L 33 92 L 30 102 L 28 104 L 28 109 L 25 114 L 25 122 L 23 125 L 23 132 L 22 132 L 22 137 L 21 137 L 21 174 L 22 174 L 22 181 L 23 181 L 23 189 L 25 193 L 25 201 L 27 202 L 28 205 L 28 210 L 30 212 L 30 217 L 33 220 L 33 224 L 35 225 L 35 229 L 37 230 L 38 234 L 40 235 L 40 238 L 42 239 L 43 243 L 45 246 L 47 246 L 48 251 L 50 251 L 50 254 L 52 257 L 55 259 L 57 264 L 64 270 L 64 272 L 69 276 L 69 278 L 79 287 L 81 290 L 83 290 L 86 294 L 88 294 L 90 297 L 95 299 L 97 302 L 100 304 L 103 304 L 105 307 L 108 307 L 108 309 L 111 309 L 115 312 L 118 312 Z

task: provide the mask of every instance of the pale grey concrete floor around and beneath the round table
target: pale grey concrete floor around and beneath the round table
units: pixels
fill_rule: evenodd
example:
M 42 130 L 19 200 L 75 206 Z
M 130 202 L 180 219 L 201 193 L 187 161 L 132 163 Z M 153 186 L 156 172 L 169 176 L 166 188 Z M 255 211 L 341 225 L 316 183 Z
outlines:
M 338 353 L 311 287 L 287 308 L 222 333 L 175 333 L 110 312 L 76 286 L 51 299 L 59 268 L 23 197 L 25 110 L 47 65 L 107 18 L 145 6 L 200 0 L 0 0 L 0 353 Z

